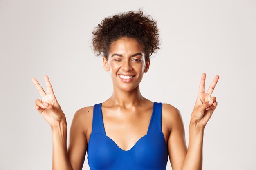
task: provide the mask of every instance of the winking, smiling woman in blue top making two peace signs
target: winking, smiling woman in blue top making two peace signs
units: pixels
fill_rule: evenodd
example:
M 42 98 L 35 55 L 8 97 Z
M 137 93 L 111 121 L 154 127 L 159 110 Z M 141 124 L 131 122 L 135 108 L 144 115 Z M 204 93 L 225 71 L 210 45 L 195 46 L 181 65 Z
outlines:
M 205 73 L 191 114 L 189 148 L 186 146 L 180 112 L 170 104 L 144 98 L 139 83 L 150 66 L 150 55 L 159 49 L 156 22 L 142 11 L 119 13 L 105 18 L 93 31 L 97 55 L 103 53 L 103 67 L 110 71 L 113 93 L 109 99 L 77 110 L 70 128 L 49 78 L 47 94 L 32 81 L 42 99 L 36 110 L 50 124 L 53 137 L 53 170 L 81 170 L 88 152 L 91 170 L 165 170 L 168 157 L 173 170 L 202 169 L 204 127 L 217 106 L 211 93 L 219 76 L 204 92 Z

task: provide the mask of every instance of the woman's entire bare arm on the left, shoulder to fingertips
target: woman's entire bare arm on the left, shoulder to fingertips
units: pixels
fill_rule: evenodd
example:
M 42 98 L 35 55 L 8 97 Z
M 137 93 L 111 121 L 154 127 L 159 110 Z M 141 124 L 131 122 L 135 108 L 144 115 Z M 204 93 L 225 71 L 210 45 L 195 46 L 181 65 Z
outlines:
M 70 148 L 67 152 L 67 121 L 65 114 L 61 110 L 47 75 L 44 76 L 47 93 L 35 78 L 32 82 L 42 99 L 36 99 L 36 110 L 44 117 L 52 129 L 52 170 L 81 170 L 87 141 L 85 138 L 86 123 L 83 120 L 85 115 L 82 109 L 78 110 L 70 128 Z M 88 111 L 89 112 L 89 111 Z M 89 119 L 88 119 L 89 120 Z

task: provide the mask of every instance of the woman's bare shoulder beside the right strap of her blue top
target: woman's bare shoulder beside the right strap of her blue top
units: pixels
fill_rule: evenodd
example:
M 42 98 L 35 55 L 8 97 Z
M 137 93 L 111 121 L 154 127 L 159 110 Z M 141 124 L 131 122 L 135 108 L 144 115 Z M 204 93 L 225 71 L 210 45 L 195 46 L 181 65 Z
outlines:
M 168 125 L 168 129 L 171 131 L 173 126 L 180 124 L 182 125 L 182 116 L 180 110 L 171 104 L 163 103 L 162 104 L 162 121 Z

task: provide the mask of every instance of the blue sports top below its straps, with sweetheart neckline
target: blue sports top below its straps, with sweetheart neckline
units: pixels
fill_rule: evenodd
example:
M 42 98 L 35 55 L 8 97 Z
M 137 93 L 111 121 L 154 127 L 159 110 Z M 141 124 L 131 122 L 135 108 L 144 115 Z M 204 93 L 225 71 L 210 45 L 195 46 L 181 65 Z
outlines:
M 122 150 L 106 135 L 92 133 L 90 140 L 87 158 L 91 170 L 166 170 L 163 133 L 144 135 L 129 150 Z

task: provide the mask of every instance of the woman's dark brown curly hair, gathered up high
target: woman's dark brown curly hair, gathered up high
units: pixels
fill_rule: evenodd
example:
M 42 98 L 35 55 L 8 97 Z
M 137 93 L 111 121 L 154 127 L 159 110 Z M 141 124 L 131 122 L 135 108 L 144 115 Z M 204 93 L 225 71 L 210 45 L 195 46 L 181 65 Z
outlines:
M 121 37 L 135 38 L 143 45 L 145 60 L 148 61 L 152 53 L 159 48 L 159 30 L 157 22 L 138 12 L 128 11 L 107 17 L 94 28 L 92 38 L 93 50 L 96 56 L 103 53 L 108 59 L 110 44 Z

